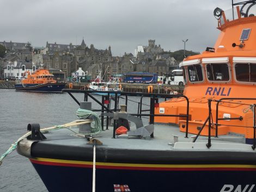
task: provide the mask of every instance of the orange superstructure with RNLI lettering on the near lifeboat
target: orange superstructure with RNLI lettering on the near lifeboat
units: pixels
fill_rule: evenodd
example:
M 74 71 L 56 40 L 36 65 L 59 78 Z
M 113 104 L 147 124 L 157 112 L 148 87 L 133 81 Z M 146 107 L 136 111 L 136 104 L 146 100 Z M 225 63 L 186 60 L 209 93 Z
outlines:
M 253 104 L 256 103 L 256 99 L 253 99 L 256 98 L 256 16 L 251 13 L 251 8 L 256 7 L 254 4 L 245 2 L 241 8 L 234 8 L 234 16 L 230 18 L 216 8 L 217 28 L 221 34 L 214 48 L 207 48 L 202 54 L 187 57 L 180 63 L 185 78 L 184 95 L 188 97 L 190 106 L 188 133 L 197 134 L 206 122 L 210 99 L 213 101 L 212 135 L 216 134 L 216 119 L 219 119 L 218 134 L 232 132 L 245 135 L 246 139 L 253 138 L 251 126 L 255 115 Z M 216 117 L 216 102 L 221 98 L 224 100 L 218 104 Z M 186 107 L 185 98 L 173 98 L 160 103 L 155 108 L 155 114 L 182 115 L 186 114 Z M 180 131 L 186 131 L 184 117 L 158 116 L 155 122 L 176 123 Z M 208 128 L 200 134 L 208 135 Z

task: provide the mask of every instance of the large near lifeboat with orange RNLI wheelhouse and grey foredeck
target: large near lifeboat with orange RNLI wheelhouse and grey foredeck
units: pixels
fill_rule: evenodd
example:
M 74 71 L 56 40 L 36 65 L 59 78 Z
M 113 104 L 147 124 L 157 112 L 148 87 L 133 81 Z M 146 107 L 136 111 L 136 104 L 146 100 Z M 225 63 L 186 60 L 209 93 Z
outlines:
M 18 152 L 29 158 L 48 191 L 255 191 L 253 5 L 233 4 L 230 18 L 215 9 L 221 30 L 215 47 L 180 64 L 184 95 L 121 92 L 127 110 L 120 111 L 117 97 L 111 109 L 108 96 L 100 102 L 91 95 L 97 90 L 64 89 L 80 104 L 78 120 L 47 129 L 29 124 L 17 142 Z M 84 94 L 84 102 L 72 92 Z M 127 113 L 127 96 L 141 96 L 139 106 L 148 99 L 149 109 Z M 100 104 L 101 121 L 88 97 Z M 147 116 L 150 125 L 141 121 Z M 103 123 L 109 117 L 113 127 Z M 120 119 L 136 126 L 116 135 Z M 50 129 L 59 130 L 43 132 Z

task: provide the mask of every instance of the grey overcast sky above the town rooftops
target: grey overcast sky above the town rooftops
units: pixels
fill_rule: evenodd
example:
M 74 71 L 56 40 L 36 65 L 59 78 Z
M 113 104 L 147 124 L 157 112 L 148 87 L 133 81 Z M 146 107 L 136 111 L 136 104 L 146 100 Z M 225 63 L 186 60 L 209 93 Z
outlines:
M 156 40 L 164 51 L 202 52 L 220 33 L 216 7 L 231 0 L 1 0 L 0 41 L 109 45 L 112 54 L 134 54 L 138 45 Z

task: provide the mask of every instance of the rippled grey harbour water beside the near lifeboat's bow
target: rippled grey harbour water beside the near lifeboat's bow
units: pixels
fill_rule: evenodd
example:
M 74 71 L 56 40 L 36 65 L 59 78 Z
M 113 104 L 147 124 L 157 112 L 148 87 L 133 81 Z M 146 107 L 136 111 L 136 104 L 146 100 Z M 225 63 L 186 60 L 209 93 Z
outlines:
M 74 94 L 83 101 L 83 94 Z M 95 96 L 100 99 L 100 96 Z M 139 101 L 138 97 L 131 98 Z M 97 104 L 92 101 L 94 108 Z M 145 101 L 147 102 L 147 99 Z M 120 99 L 120 104 L 124 100 Z M 129 111 L 137 113 L 137 103 L 129 102 Z M 27 131 L 28 123 L 39 123 L 41 128 L 77 119 L 78 104 L 68 94 L 45 94 L 0 89 L 0 155 Z M 143 109 L 149 108 L 144 106 Z M 135 110 L 135 111 L 134 111 Z M 147 122 L 144 119 L 144 122 Z M 47 191 L 44 183 L 26 157 L 16 151 L 9 154 L 0 166 L 0 191 Z

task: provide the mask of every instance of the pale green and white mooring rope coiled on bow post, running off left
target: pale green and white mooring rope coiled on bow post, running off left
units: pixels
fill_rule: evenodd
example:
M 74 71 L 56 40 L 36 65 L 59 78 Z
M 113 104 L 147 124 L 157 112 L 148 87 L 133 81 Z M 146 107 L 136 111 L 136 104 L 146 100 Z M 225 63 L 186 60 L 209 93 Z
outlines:
M 58 129 L 62 129 L 62 128 L 67 128 L 69 129 L 70 131 L 72 131 L 69 127 L 74 127 L 74 126 L 77 126 L 77 125 L 83 125 L 85 123 L 90 123 L 92 122 L 91 119 L 87 119 L 90 115 L 92 117 L 92 119 L 94 120 L 94 126 L 91 126 L 91 133 L 87 133 L 87 134 L 81 134 L 81 133 L 77 133 L 75 131 L 72 131 L 72 132 L 75 132 L 76 134 L 78 135 L 82 135 L 82 136 L 85 136 L 85 135 L 94 135 L 94 134 L 97 134 L 97 133 L 100 133 L 101 132 L 101 122 L 100 122 L 100 117 L 95 113 L 95 112 L 92 112 L 90 110 L 86 110 L 86 109 L 78 109 L 77 112 L 76 112 L 76 115 L 79 119 L 83 119 L 84 121 L 79 121 L 77 122 L 76 121 L 72 121 L 70 123 L 66 123 L 64 125 L 58 125 L 58 126 L 53 126 L 53 127 L 48 127 L 48 128 L 42 128 L 40 129 L 41 132 L 43 131 L 54 131 L 54 130 L 58 130 Z M 93 123 L 93 122 L 92 122 Z M 11 144 L 11 146 L 8 148 L 8 150 L 2 154 L 2 156 L 0 157 L 0 165 L 2 164 L 3 162 L 3 159 L 8 156 L 8 154 L 10 154 L 11 152 L 13 152 L 16 147 L 17 147 L 17 144 L 19 143 L 19 141 L 21 141 L 22 139 L 25 139 L 27 138 L 29 135 L 31 135 L 31 131 L 27 132 L 25 135 L 23 135 L 22 137 L 20 137 L 14 144 Z

